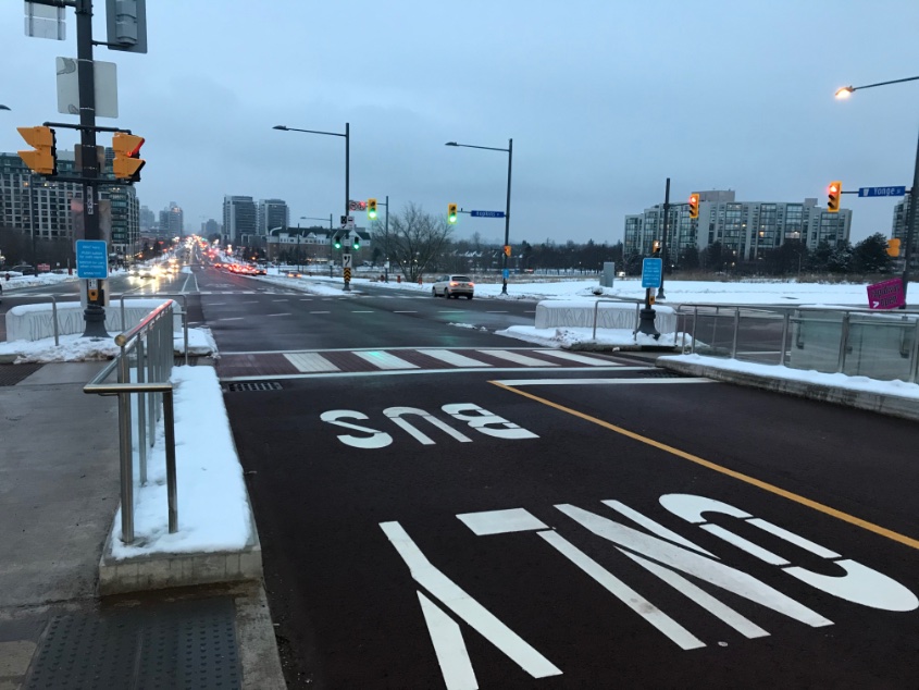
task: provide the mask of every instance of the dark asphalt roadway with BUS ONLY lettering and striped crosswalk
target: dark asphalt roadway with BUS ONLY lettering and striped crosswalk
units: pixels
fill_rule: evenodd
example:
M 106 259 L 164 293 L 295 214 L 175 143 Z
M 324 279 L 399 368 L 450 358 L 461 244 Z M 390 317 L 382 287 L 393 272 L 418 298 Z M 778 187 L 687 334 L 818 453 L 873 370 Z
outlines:
M 291 688 L 917 685 L 915 426 L 196 278 Z

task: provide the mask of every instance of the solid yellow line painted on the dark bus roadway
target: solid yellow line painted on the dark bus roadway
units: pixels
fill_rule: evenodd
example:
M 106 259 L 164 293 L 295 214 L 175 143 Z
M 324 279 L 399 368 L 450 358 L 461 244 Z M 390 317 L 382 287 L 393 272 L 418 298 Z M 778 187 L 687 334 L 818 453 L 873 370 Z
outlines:
M 889 530 L 885 527 L 881 527 L 880 525 L 874 525 L 873 522 L 869 522 L 868 520 L 862 520 L 861 518 L 857 518 L 854 515 L 849 515 L 848 513 L 843 513 L 842 510 L 836 510 L 835 508 L 831 508 L 830 506 L 823 505 L 822 503 L 818 503 L 817 501 L 805 498 L 802 495 L 782 489 L 781 486 L 777 486 L 775 484 L 770 484 L 769 482 L 761 481 L 759 479 L 756 479 L 755 477 L 750 477 L 749 475 L 744 475 L 743 472 L 737 472 L 735 470 L 728 469 L 726 467 L 722 467 L 721 465 L 716 465 L 715 463 L 700 458 L 699 456 L 693 455 L 692 453 L 686 453 L 685 451 L 681 451 L 680 448 L 674 448 L 673 446 L 667 445 L 666 443 L 660 443 L 659 441 L 655 441 L 654 439 L 648 439 L 647 436 L 643 436 L 642 434 L 635 433 L 634 431 L 629 431 L 628 429 L 617 427 L 616 424 L 611 424 L 608 421 L 604 421 L 603 419 L 597 419 L 596 417 L 592 417 L 591 415 L 580 412 L 576 409 L 571 409 L 570 407 L 564 407 L 563 405 L 559 405 L 558 403 L 552 403 L 551 401 L 547 401 L 546 398 L 539 397 L 538 395 L 533 395 L 532 393 L 520 391 L 498 381 L 489 381 L 489 383 L 505 389 L 506 391 L 510 391 L 511 393 L 522 395 L 523 397 L 529 397 L 531 401 L 542 403 L 543 405 L 547 405 L 548 407 L 554 407 L 555 409 L 560 410 L 562 412 L 573 415 L 574 417 L 580 417 L 585 421 L 589 421 L 594 424 L 603 427 L 604 429 L 609 429 L 610 431 L 614 431 L 616 433 L 638 441 L 639 443 L 653 446 L 655 448 L 663 451 L 665 453 L 670 453 L 671 455 L 681 457 L 684 460 L 690 460 L 691 463 L 701 465 L 703 467 L 707 467 L 708 469 L 715 470 L 716 472 L 721 472 L 722 475 L 738 479 L 747 484 L 758 486 L 759 489 L 787 498 L 788 501 L 794 501 L 795 503 L 806 505 L 808 508 L 814 508 L 815 510 L 819 510 L 820 513 L 830 515 L 834 518 L 843 520 L 844 522 L 856 525 L 862 529 L 868 530 L 869 532 L 874 532 L 875 534 L 886 537 L 887 539 L 892 539 L 893 541 L 899 542 L 901 544 L 905 544 L 911 549 L 919 550 L 919 540 L 906 537 L 905 534 L 901 534 L 899 532 L 894 532 L 893 530 Z

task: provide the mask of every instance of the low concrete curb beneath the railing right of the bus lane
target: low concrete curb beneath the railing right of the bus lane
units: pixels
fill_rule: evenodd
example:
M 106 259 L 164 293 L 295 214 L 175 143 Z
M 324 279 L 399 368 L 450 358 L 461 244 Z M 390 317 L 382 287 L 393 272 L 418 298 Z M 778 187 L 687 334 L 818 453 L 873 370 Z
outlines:
M 822 385 L 808 381 L 774 379 L 749 372 L 728 371 L 724 369 L 718 369 L 717 367 L 685 361 L 658 360 L 657 366 L 669 371 L 691 377 L 705 377 L 715 381 L 736 383 L 737 385 L 747 385 L 756 389 L 762 389 L 765 391 L 773 391 L 775 393 L 784 393 L 786 395 L 795 395 L 797 397 L 805 397 L 811 401 L 819 401 L 821 403 L 833 403 L 835 405 L 855 407 L 872 412 L 879 412 L 881 415 L 887 415 L 890 417 L 899 417 L 901 419 L 919 421 L 919 401 L 908 397 L 884 395 L 868 391 L 840 389 L 836 386 Z

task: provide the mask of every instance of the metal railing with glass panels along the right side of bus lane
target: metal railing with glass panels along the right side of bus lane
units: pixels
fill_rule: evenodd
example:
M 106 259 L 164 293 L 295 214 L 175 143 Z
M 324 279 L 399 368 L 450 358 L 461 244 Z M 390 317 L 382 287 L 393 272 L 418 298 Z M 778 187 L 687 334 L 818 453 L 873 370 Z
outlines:
M 839 317 L 827 318 L 827 313 L 839 315 Z M 781 319 L 782 335 L 778 344 L 779 360 L 777 362 L 763 362 L 777 364 L 779 366 L 786 366 L 792 347 L 797 350 L 805 349 L 806 325 L 824 324 L 839 328 L 839 348 L 835 350 L 836 354 L 832 360 L 828 359 L 823 366 L 819 366 L 819 364 L 817 366 L 808 366 L 808 368 L 814 368 L 823 373 L 842 373 L 846 369 L 849 354 L 853 350 L 852 334 L 854 326 L 877 329 L 879 332 L 880 330 L 898 329 L 898 346 L 895 349 L 899 358 L 908 359 L 905 380 L 910 383 L 919 383 L 919 311 L 915 309 L 878 311 L 864 307 L 684 304 L 676 307 L 676 315 L 678 319 L 682 317 L 684 323 L 681 346 L 681 350 L 684 354 L 696 354 L 697 344 L 705 343 L 703 337 L 706 336 L 698 333 L 699 324 L 704 319 L 709 319 L 711 321 L 711 335 L 706 344 L 709 350 L 707 354 L 712 356 L 719 356 L 721 354 L 721 356 L 730 357 L 731 359 L 737 359 L 738 355 L 750 356 L 748 352 L 740 352 L 738 338 L 742 321 L 758 320 L 761 325 L 763 320 L 774 321 Z M 685 324 L 690 318 L 692 318 L 692 330 L 687 334 Z M 723 322 L 728 318 L 733 321 L 730 348 L 719 347 L 719 322 Z M 790 343 L 790 333 L 793 328 L 795 330 L 794 342 Z M 688 347 L 686 346 L 687 336 L 692 338 Z M 834 345 L 833 347 L 836 346 Z M 729 354 L 725 355 L 724 353 Z M 890 355 L 890 348 L 875 353 L 875 356 L 882 357 L 884 354 Z M 759 355 L 761 356 L 761 353 Z

